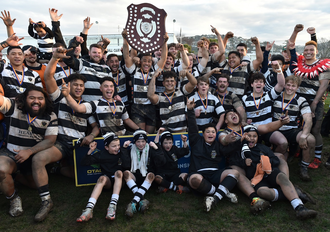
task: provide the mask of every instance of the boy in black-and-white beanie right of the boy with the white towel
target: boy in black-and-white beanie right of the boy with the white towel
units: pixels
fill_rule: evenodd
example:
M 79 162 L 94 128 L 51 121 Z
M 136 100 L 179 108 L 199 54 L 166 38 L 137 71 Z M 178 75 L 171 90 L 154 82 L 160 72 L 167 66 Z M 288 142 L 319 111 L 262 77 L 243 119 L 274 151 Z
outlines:
M 169 189 L 177 191 L 179 194 L 182 192 L 189 193 L 190 189 L 182 186 L 187 181 L 188 174 L 180 173 L 180 169 L 178 168 L 178 159 L 190 152 L 187 145 L 187 136 L 181 135 L 183 142 L 182 148 L 173 145 L 173 135 L 169 131 L 165 131 L 165 128 L 159 128 L 154 140 L 155 143 L 158 143 L 159 136 L 160 145 L 166 158 L 166 164 L 157 168 L 156 171 L 155 182 L 160 185 L 157 193 L 166 192 Z

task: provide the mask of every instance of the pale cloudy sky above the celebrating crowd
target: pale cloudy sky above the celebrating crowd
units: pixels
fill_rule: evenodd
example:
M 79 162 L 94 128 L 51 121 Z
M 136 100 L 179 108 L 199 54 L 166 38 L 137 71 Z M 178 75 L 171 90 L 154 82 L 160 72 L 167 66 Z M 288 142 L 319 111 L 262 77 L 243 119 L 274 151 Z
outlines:
M 92 3 L 91 3 L 92 2 Z M 11 0 L 2 4 L 1 11 L 8 10 L 12 19 L 16 18 L 14 31 L 19 37 L 28 36 L 28 19 L 45 21 L 49 26 L 48 8 L 58 9 L 63 35 L 79 35 L 82 31 L 82 21 L 91 17 L 94 25 L 88 34 L 97 35 L 99 22 L 100 34 L 118 34 L 127 21 L 127 6 L 131 3 L 140 4 L 149 2 L 167 13 L 166 30 L 173 33 L 173 19 L 175 34 L 180 32 L 187 36 L 212 34 L 210 24 L 221 34 L 232 31 L 235 36 L 250 38 L 257 36 L 260 41 L 278 41 L 288 39 L 296 24 L 304 24 L 304 31 L 300 32 L 297 44 L 304 44 L 310 40 L 306 32 L 308 27 L 315 27 L 318 38 L 330 37 L 330 2 L 314 0 L 300 1 L 255 1 L 255 0 L 167 0 L 167 1 L 140 1 L 140 0 Z M 231 3 L 231 5 L 228 4 Z M 5 6 L 6 5 L 6 6 Z M 6 27 L 0 20 L 0 39 L 7 37 Z

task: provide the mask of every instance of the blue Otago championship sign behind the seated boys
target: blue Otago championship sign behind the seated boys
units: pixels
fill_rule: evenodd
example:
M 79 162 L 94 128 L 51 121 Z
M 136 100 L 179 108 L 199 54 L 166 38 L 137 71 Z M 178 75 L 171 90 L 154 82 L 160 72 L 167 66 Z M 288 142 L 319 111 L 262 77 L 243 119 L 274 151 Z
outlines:
M 188 133 L 173 133 L 173 145 L 178 148 L 182 148 L 183 142 L 181 140 L 181 135 L 184 134 L 188 137 Z M 200 133 L 202 135 L 202 133 Z M 154 141 L 156 135 L 148 135 L 148 141 Z M 217 137 L 216 137 L 217 138 Z M 133 142 L 133 136 L 119 136 L 120 146 L 124 144 L 126 141 Z M 76 145 L 78 140 L 73 140 L 74 145 Z M 93 153 L 99 152 L 104 149 L 103 138 L 95 138 L 94 141 L 97 143 L 96 149 Z M 189 138 L 187 139 L 187 144 L 189 146 Z M 130 146 L 133 145 L 132 143 Z M 128 149 L 130 148 L 128 147 Z M 190 146 L 189 146 L 190 147 Z M 96 184 L 97 180 L 100 176 L 102 176 L 102 170 L 100 169 L 99 164 L 94 164 L 90 166 L 81 166 L 80 161 L 82 157 L 88 152 L 89 147 L 79 147 L 74 150 L 74 160 L 75 160 L 75 173 L 76 173 L 76 186 L 83 185 L 92 185 Z M 178 160 L 178 168 L 180 168 L 181 173 L 188 173 L 190 166 L 190 153 L 186 156 L 180 158 Z M 225 166 L 225 160 L 223 159 L 221 163 L 219 163 L 219 168 L 223 168 Z M 123 170 L 125 171 L 125 170 Z

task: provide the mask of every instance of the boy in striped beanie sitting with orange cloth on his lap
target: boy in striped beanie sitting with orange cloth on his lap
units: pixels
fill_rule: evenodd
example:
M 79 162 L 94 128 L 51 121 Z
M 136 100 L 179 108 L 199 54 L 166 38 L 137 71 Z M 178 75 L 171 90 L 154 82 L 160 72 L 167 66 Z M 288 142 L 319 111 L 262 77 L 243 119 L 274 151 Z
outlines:
M 245 169 L 246 176 L 251 180 L 252 186 L 255 185 L 254 189 L 257 194 L 269 201 L 288 199 L 299 218 L 316 217 L 317 212 L 307 209 L 300 198 L 306 199 L 307 197 L 307 200 L 310 202 L 314 199 L 312 199 L 311 196 L 306 196 L 308 194 L 302 193 L 301 191 L 299 191 L 299 194 L 302 196 L 298 196 L 295 187 L 287 176 L 278 169 L 278 165 L 280 164 L 279 158 L 274 155 L 269 147 L 257 143 L 259 135 L 257 128 L 248 125 L 244 129 L 244 133 L 247 133 L 249 141 L 247 144 L 243 145 L 242 153 L 237 155 L 238 159 L 236 165 Z M 262 167 L 260 167 L 260 169 L 269 170 L 270 174 L 264 174 L 264 176 L 258 177 L 256 175 L 256 170 L 258 169 L 257 164 L 260 163 L 260 159 L 262 160 Z M 270 168 L 265 168 L 267 167 L 267 163 Z M 256 179 L 258 181 L 256 181 Z

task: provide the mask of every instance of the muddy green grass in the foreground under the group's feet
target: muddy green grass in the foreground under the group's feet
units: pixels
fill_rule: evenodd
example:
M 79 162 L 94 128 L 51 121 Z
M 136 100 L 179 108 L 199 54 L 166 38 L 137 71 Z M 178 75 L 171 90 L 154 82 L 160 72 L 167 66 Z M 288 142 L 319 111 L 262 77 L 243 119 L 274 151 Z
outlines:
M 326 100 L 325 110 L 328 110 Z M 330 140 L 323 138 L 322 164 L 330 152 Z M 251 215 L 250 201 L 237 188 L 232 192 L 239 197 L 238 204 L 222 200 L 208 214 L 202 207 L 202 197 L 193 194 L 177 194 L 174 191 L 156 194 L 152 185 L 145 194 L 151 206 L 145 215 L 137 213 L 132 219 L 124 215 L 124 208 L 133 198 L 132 192 L 122 189 L 114 222 L 105 219 L 112 191 L 103 191 L 94 208 L 93 218 L 86 223 L 76 219 L 85 208 L 94 185 L 76 187 L 75 181 L 49 174 L 49 189 L 54 202 L 54 210 L 41 223 L 34 222 L 41 201 L 36 190 L 21 187 L 24 213 L 19 217 L 8 214 L 9 201 L 0 195 L 0 231 L 330 231 L 330 170 L 323 165 L 316 170 L 309 170 L 312 182 L 302 182 L 297 175 L 298 159 L 289 164 L 290 180 L 309 192 L 317 201 L 316 205 L 305 204 L 316 210 L 315 219 L 299 220 L 289 201 L 271 202 L 271 208 L 260 215 Z

